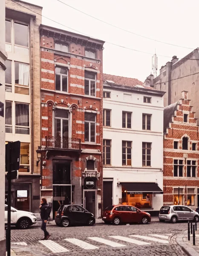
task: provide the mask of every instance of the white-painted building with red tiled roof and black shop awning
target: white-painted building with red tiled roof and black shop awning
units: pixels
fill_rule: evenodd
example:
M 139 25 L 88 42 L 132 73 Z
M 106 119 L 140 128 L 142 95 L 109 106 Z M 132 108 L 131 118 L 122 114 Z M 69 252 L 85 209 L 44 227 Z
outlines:
M 104 74 L 104 208 L 163 204 L 163 96 L 141 81 Z

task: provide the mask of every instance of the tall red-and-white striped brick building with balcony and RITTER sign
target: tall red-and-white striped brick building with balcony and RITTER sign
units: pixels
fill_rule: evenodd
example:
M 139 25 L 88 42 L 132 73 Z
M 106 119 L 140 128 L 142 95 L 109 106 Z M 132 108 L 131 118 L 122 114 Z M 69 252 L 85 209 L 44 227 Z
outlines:
M 102 210 L 104 41 L 40 26 L 41 196 Z

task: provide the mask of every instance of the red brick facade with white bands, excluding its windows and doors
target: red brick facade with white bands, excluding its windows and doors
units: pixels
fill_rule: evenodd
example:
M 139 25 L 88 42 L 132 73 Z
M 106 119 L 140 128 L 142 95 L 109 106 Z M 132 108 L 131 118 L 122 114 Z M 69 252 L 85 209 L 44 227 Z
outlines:
M 55 49 L 55 42 L 68 47 L 68 52 Z M 103 143 L 103 80 L 102 49 L 103 41 L 85 36 L 40 26 L 40 58 L 41 58 L 41 149 L 43 157 L 41 195 L 48 197 L 55 207 L 53 190 L 53 172 L 56 163 L 70 162 L 71 166 L 71 203 L 86 207 L 83 190 L 84 179 L 88 176 L 96 181 L 95 214 L 102 211 L 102 143 Z M 85 49 L 95 51 L 96 58 L 85 56 Z M 55 90 L 55 68 L 67 70 L 67 92 Z M 84 73 L 95 74 L 95 96 L 84 93 Z M 69 115 L 68 140 L 81 142 L 80 148 L 71 148 L 68 144 L 56 146 L 55 111 L 62 109 Z M 84 113 L 95 113 L 95 143 L 84 140 Z M 62 139 L 62 138 L 61 138 Z M 55 140 L 55 144 L 48 144 Z M 47 142 L 48 141 L 48 142 Z M 50 143 L 51 143 L 50 142 Z M 73 144 L 71 144 L 73 145 Z M 58 148 L 57 148 L 58 147 Z M 73 147 L 73 146 L 72 146 Z M 87 170 L 87 160 L 95 161 L 95 170 Z M 64 183 L 64 182 L 63 182 Z M 54 216 L 53 216 L 54 217 Z

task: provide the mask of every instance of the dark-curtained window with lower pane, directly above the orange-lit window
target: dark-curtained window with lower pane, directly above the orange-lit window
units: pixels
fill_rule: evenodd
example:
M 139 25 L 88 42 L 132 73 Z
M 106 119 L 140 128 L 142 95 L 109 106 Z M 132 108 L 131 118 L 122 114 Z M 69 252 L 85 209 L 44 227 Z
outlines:
M 29 105 L 23 103 L 15 103 L 15 133 L 29 133 Z

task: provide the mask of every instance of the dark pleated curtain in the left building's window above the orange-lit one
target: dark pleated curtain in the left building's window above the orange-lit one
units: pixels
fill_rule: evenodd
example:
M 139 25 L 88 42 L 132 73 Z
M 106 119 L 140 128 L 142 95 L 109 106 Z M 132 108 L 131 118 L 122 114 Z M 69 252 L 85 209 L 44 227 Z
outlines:
M 29 126 L 29 105 L 16 103 L 15 125 Z

